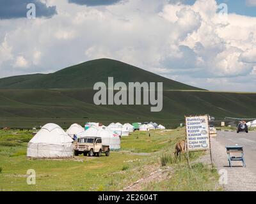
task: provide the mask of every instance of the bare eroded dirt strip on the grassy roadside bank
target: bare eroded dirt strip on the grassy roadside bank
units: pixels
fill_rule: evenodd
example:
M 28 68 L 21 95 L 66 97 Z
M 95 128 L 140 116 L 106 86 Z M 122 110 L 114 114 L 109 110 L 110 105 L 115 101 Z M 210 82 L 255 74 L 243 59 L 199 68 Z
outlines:
M 122 191 L 143 191 L 150 182 L 161 182 L 162 180 L 166 180 L 170 178 L 170 174 L 172 173 L 172 168 L 170 168 L 170 166 L 166 166 L 166 168 L 160 168 L 160 166 L 145 166 L 145 170 L 149 173 L 147 176 L 125 187 Z

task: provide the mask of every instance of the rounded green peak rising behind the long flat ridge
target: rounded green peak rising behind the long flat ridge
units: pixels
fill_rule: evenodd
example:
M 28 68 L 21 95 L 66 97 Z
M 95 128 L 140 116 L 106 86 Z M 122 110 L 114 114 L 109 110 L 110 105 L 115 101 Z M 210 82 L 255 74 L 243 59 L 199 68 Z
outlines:
M 164 89 L 202 90 L 111 59 L 97 59 L 55 73 L 0 79 L 0 89 L 92 89 L 96 82 L 163 82 Z

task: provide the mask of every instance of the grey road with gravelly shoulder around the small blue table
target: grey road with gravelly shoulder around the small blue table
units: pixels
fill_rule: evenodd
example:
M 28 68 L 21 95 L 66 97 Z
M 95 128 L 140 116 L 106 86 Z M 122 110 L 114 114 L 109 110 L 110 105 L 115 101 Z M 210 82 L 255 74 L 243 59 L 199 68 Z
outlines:
M 217 135 L 211 139 L 212 158 L 219 173 L 225 170 L 228 177 L 227 184 L 221 186 L 225 191 L 256 191 L 256 132 L 218 131 Z M 235 167 L 228 166 L 225 146 L 236 144 L 243 146 L 246 168 L 241 161 L 233 161 Z

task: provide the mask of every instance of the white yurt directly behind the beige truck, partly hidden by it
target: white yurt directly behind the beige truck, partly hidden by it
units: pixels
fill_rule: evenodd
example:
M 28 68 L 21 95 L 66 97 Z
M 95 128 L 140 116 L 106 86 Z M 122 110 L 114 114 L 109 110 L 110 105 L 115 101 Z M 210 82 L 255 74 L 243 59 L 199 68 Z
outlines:
M 109 145 L 109 149 L 120 149 L 121 141 L 119 135 L 106 126 L 92 126 L 84 131 L 84 133 L 81 133 L 78 138 L 88 136 L 99 136 L 102 138 L 102 145 Z

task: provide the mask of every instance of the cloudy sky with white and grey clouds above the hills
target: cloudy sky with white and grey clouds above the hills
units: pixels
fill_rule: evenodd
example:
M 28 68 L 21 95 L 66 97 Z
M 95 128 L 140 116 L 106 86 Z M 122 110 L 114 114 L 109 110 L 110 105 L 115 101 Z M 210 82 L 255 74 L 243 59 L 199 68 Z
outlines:
M 0 77 L 102 57 L 209 90 L 256 92 L 256 0 L 0 1 Z

